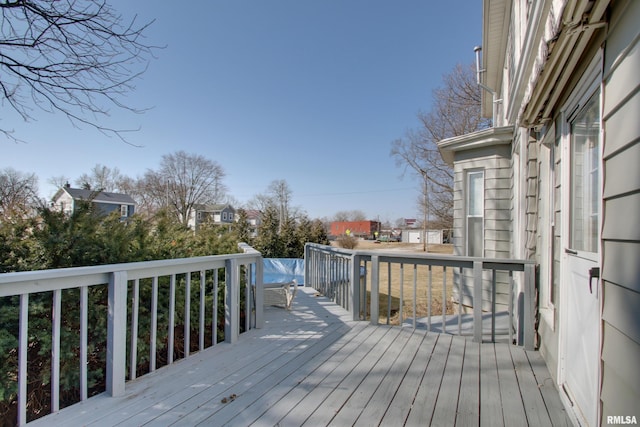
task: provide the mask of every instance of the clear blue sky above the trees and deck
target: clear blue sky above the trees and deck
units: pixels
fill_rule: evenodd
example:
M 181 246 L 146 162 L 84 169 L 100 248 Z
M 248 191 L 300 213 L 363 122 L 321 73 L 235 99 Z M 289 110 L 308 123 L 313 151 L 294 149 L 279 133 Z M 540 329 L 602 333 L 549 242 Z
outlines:
M 35 173 L 43 197 L 53 176 L 72 181 L 96 164 L 131 177 L 163 154 L 199 154 L 226 172 L 246 202 L 285 180 L 292 204 L 312 218 L 361 210 L 394 222 L 417 216 L 417 181 L 389 156 L 391 142 L 419 127 L 431 92 L 481 43 L 479 1 L 112 0 L 125 16 L 155 19 L 157 52 L 103 123 L 140 128 L 140 148 L 61 115 L 23 123 L 0 105 L 0 126 L 28 141 L 0 139 L 0 168 Z M 188 6 L 186 6 L 188 5 Z

